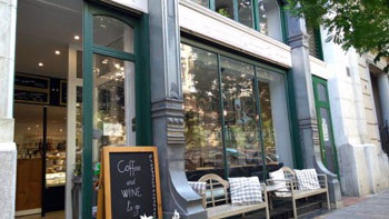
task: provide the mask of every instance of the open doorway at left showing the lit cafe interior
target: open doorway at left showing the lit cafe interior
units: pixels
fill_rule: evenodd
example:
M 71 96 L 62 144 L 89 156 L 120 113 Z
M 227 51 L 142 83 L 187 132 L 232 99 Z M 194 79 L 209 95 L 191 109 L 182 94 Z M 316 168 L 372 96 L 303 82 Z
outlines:
M 79 59 L 72 56 L 72 51 L 82 48 L 82 8 L 83 2 L 79 0 L 18 3 L 14 73 L 17 217 L 50 218 L 53 213 L 56 218 L 64 218 L 64 210 L 71 207 L 71 180 L 77 157 L 81 155 L 82 139 L 74 143 L 69 141 L 68 103 L 72 99 L 68 88 L 70 66 L 82 66 L 82 56 Z M 82 76 L 82 68 L 78 73 Z M 76 107 L 72 111 L 76 117 Z M 72 125 L 76 130 L 76 121 Z M 69 155 L 69 149 L 74 152 Z

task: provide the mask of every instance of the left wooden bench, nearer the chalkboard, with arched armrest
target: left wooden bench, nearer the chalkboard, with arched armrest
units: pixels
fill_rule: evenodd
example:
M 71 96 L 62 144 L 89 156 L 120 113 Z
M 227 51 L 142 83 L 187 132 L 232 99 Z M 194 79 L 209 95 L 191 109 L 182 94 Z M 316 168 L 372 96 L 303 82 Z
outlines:
M 262 188 L 262 203 L 249 205 L 249 206 L 233 206 L 229 203 L 228 197 L 228 181 L 221 177 L 209 173 L 199 179 L 200 182 L 207 182 L 206 193 L 202 195 L 202 205 L 207 209 L 209 219 L 226 218 L 230 216 L 242 215 L 246 212 L 265 209 L 266 218 L 269 219 L 269 206 L 266 185 L 261 183 Z M 217 192 L 222 191 L 222 196 L 215 196 Z M 207 200 L 207 193 L 209 195 L 209 201 Z M 210 205 L 211 207 L 207 208 Z

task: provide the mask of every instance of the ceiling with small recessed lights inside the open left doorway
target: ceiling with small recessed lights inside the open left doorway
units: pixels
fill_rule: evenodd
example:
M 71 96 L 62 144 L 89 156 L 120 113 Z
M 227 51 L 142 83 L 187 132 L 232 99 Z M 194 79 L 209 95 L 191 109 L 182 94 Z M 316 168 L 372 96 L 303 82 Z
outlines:
M 73 37 L 81 37 L 79 41 Z M 67 78 L 68 47 L 82 46 L 81 0 L 18 2 L 16 71 Z M 61 54 L 54 54 L 60 50 Z M 38 67 L 43 62 L 43 67 Z

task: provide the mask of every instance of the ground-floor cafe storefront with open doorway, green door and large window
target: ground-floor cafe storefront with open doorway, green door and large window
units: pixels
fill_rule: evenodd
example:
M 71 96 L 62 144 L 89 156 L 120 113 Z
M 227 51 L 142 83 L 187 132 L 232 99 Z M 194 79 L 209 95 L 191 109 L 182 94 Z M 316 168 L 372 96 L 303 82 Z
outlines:
M 281 31 L 253 33 L 189 1 L 131 2 L 20 1 L 14 141 L 36 173 L 18 172 L 17 216 L 96 217 L 106 146 L 157 146 L 166 218 L 206 217 L 188 185 L 203 175 L 263 181 L 301 167 Z M 54 195 L 48 175 L 60 176 Z

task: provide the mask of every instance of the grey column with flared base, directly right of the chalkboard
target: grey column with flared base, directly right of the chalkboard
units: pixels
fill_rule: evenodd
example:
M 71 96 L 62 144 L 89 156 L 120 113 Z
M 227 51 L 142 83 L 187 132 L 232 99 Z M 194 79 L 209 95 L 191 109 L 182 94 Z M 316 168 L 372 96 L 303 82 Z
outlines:
M 184 173 L 183 102 L 178 0 L 149 0 L 151 111 L 158 147 L 163 218 L 207 218 Z

